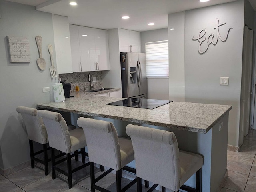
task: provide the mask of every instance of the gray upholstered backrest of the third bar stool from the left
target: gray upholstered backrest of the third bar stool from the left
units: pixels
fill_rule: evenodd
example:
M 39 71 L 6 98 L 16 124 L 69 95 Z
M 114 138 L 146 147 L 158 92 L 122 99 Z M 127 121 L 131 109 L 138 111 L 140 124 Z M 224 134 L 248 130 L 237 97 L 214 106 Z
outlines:
M 120 145 L 112 122 L 80 117 L 77 124 L 84 130 L 90 162 L 120 170 Z

